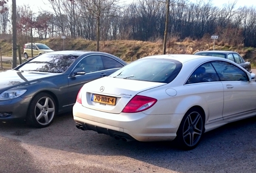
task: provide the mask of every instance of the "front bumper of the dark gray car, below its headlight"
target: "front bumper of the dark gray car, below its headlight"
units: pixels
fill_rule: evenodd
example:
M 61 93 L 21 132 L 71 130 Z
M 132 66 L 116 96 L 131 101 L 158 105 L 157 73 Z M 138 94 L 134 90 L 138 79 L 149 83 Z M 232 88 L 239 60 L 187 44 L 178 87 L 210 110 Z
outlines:
M 32 97 L 0 101 L 0 121 L 25 119 Z

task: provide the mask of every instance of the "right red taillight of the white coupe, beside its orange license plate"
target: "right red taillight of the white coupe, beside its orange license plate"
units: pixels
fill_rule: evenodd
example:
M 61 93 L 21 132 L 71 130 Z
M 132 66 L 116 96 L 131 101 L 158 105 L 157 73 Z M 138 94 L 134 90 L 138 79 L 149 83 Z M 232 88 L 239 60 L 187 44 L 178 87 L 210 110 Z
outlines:
M 157 103 L 157 99 L 151 97 L 145 97 L 136 95 L 129 101 L 129 103 L 124 107 L 123 113 L 136 113 L 149 109 Z

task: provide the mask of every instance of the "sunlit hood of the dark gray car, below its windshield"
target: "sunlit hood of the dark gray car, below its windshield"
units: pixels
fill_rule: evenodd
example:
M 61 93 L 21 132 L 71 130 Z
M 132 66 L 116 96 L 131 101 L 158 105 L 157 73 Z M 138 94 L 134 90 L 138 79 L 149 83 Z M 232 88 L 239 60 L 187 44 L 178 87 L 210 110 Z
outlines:
M 31 81 L 34 82 L 43 78 L 56 75 L 61 74 L 36 71 L 7 70 L 4 72 L 0 72 L 0 91 L 2 89 L 10 89 L 21 84 L 29 83 Z

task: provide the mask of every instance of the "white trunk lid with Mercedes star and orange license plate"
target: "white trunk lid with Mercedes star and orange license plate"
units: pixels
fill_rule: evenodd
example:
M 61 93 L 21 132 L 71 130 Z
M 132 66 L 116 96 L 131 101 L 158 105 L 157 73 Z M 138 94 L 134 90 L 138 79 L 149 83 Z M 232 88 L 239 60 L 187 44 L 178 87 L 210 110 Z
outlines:
M 104 77 L 93 80 L 82 89 L 82 105 L 107 113 L 121 113 L 138 93 L 166 83 Z

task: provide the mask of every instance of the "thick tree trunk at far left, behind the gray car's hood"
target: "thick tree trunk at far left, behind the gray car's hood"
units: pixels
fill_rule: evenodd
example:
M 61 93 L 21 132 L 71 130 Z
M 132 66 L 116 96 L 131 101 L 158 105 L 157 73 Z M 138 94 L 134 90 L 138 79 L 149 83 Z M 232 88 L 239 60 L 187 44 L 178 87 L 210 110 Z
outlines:
M 12 69 L 17 67 L 17 16 L 16 0 L 12 0 Z

